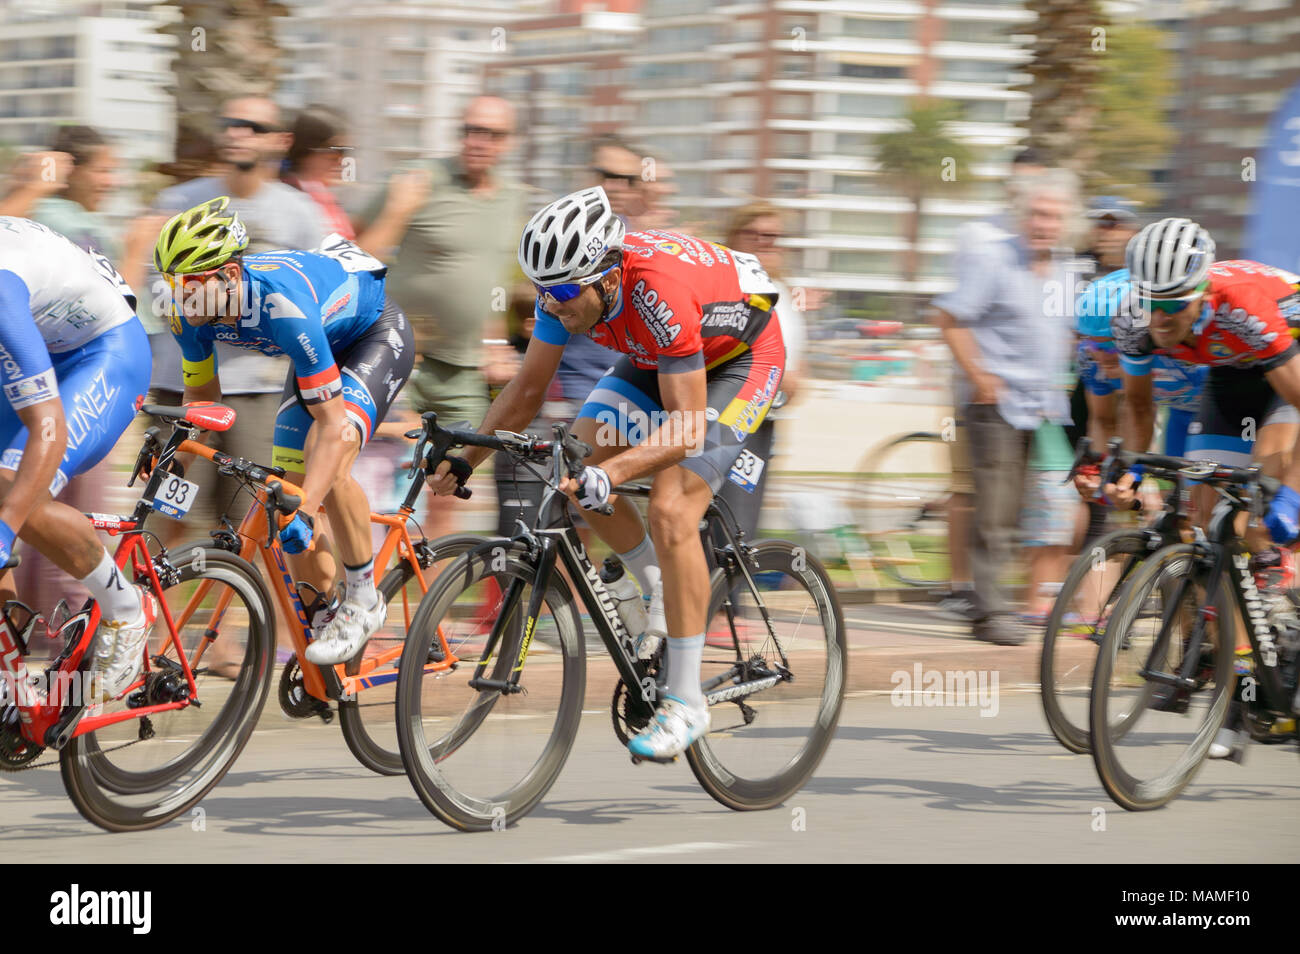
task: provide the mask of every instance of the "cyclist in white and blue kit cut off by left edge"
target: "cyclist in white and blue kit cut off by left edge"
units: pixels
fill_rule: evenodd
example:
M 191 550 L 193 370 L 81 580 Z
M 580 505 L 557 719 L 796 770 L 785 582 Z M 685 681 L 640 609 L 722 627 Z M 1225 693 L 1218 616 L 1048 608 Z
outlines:
M 14 537 L 99 603 L 91 686 L 126 691 L 155 598 L 118 572 L 82 513 L 55 498 L 113 448 L 150 386 L 135 295 L 108 259 L 26 218 L 0 217 L 0 564 Z M 134 360 L 133 360 L 134 359 Z

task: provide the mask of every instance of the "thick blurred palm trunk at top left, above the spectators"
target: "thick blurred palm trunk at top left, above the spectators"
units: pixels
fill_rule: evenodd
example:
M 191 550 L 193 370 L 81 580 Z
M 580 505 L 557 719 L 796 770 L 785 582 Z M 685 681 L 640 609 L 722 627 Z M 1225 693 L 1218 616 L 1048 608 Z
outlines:
M 274 0 L 195 0 L 159 27 L 174 36 L 177 142 L 211 134 L 212 118 L 231 96 L 270 96 L 283 55 L 276 17 L 289 10 Z M 186 130 L 182 134 L 182 130 Z

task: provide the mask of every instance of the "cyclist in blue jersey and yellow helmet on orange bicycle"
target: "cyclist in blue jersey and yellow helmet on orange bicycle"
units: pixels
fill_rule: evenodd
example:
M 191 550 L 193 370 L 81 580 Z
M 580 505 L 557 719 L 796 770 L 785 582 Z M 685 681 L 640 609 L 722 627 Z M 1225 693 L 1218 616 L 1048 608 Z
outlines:
M 272 460 L 302 485 L 304 499 L 280 539 L 290 554 L 306 551 L 311 515 L 325 507 L 344 593 L 338 612 L 307 647 L 307 659 L 342 663 L 361 651 L 387 612 L 374 587 L 370 504 L 351 471 L 411 376 L 411 325 L 385 294 L 384 264 L 358 246 L 330 235 L 312 252 L 243 255 L 248 237 L 228 205 L 221 196 L 174 216 L 155 247 L 155 265 L 172 286 L 170 326 L 181 346 L 185 399 L 221 399 L 218 341 L 292 363 Z M 326 554 L 294 564 L 317 590 L 333 585 Z

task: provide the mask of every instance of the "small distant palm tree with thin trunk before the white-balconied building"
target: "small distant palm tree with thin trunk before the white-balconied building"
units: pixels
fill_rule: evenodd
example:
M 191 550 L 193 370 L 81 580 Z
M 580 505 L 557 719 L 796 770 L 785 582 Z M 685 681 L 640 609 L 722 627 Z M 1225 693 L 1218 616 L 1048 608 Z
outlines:
M 926 200 L 939 192 L 956 192 L 970 178 L 970 148 L 949 131 L 961 120 L 961 107 L 941 100 L 916 100 L 909 108 L 905 129 L 876 136 L 880 174 L 911 201 L 907 216 L 907 250 L 904 281 L 909 290 L 916 281 L 922 212 Z M 915 316 L 915 294 L 898 296 L 900 317 Z

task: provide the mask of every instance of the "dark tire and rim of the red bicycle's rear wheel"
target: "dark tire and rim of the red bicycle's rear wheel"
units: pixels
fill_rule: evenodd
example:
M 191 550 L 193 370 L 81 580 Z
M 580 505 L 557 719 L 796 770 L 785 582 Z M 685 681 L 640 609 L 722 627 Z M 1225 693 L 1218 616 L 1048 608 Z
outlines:
M 60 751 L 60 773 L 73 805 L 86 820 L 110 832 L 156 828 L 198 803 L 243 751 L 270 691 L 274 615 L 261 576 L 246 560 L 225 550 L 199 550 L 202 560 L 195 558 L 177 565 L 177 585 L 216 580 L 235 590 L 248 613 L 243 664 L 208 727 L 185 751 L 161 766 L 131 771 L 114 764 L 108 759 L 112 750 L 101 746 L 98 732 L 73 738 Z M 216 702 L 216 698 L 208 699 L 209 706 Z M 190 710 L 211 711 L 190 706 L 176 712 Z M 170 714 L 157 717 L 164 715 Z M 120 725 L 130 724 L 131 720 L 126 720 Z

